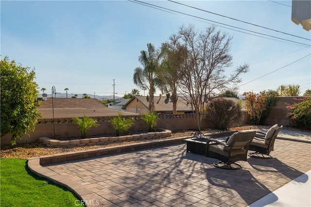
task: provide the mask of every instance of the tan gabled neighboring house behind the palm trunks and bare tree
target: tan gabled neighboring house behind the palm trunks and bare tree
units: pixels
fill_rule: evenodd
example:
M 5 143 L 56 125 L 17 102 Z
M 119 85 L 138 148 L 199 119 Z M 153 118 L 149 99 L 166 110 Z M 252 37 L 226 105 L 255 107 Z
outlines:
M 166 96 L 155 96 L 155 112 L 159 114 L 173 114 L 173 103 L 170 98 Z M 148 112 L 149 102 L 147 96 L 135 96 L 130 99 L 123 108 L 126 111 L 138 114 Z M 177 114 L 192 114 L 191 105 L 184 100 L 184 97 L 179 97 L 176 105 Z

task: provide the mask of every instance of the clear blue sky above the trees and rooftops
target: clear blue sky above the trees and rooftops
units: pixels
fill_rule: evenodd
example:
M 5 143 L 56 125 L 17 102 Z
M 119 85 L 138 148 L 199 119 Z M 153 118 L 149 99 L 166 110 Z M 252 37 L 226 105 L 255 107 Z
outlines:
M 282 33 L 191 9 L 170 1 L 145 1 L 189 15 L 246 30 L 311 45 L 311 31 L 291 20 L 292 1 L 204 0 L 180 1 L 213 13 L 247 21 Z M 285 5 L 284 5 L 285 4 Z M 287 6 L 286 6 L 287 5 Z M 88 93 L 117 96 L 138 88 L 133 72 L 147 43 L 159 47 L 181 25 L 202 30 L 211 22 L 164 12 L 132 1 L 0 1 L 1 59 L 9 56 L 24 67 L 35 68 L 39 87 L 51 93 Z M 276 89 L 298 84 L 311 88 L 311 47 L 216 24 L 233 36 L 232 68 L 248 63 L 239 92 Z M 232 30 L 234 29 L 234 30 Z M 240 32 L 238 32 L 240 31 Z M 242 31 L 242 32 L 241 32 Z M 248 33 L 248 34 L 245 34 Z M 303 38 L 294 37 L 296 35 Z M 259 37 L 260 36 L 260 37 Z M 294 61 L 297 61 L 293 63 Z M 293 63 L 293 64 L 291 64 Z M 289 66 L 286 66 L 291 64 Z M 286 66 L 286 67 L 284 67 Z M 284 67 L 284 68 L 282 68 Z M 281 69 L 282 68 L 282 69 Z M 273 72 L 277 70 L 276 72 Z M 271 74 L 259 78 L 263 75 Z M 258 80 L 255 80 L 259 78 Z M 255 80 L 255 81 L 253 81 Z M 252 82 L 250 82 L 252 81 Z M 248 83 L 250 82 L 250 83 Z M 139 88 L 138 88 L 139 89 Z M 140 94 L 143 94 L 141 89 Z M 157 91 L 157 94 L 160 91 Z

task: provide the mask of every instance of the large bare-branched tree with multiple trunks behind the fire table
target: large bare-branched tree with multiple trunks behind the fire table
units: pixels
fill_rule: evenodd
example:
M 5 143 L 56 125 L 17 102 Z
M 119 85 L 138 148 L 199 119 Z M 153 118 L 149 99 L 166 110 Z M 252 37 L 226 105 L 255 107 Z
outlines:
M 178 31 L 178 43 L 187 48 L 187 60 L 178 83 L 180 93 L 188 94 L 192 110 L 195 111 L 194 123 L 201 131 L 201 121 L 208 97 L 220 92 L 228 85 L 241 82 L 239 75 L 248 71 L 244 64 L 227 75 L 226 68 L 232 66 L 232 55 L 229 53 L 232 37 L 215 27 L 196 31 L 192 25 L 181 26 Z

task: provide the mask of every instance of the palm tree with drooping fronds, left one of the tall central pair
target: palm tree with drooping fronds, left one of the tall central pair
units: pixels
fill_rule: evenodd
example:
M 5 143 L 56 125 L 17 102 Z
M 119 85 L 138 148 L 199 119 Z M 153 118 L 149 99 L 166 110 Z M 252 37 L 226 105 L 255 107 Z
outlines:
M 140 88 L 147 88 L 149 90 L 149 106 L 148 111 L 155 110 L 154 94 L 155 88 L 161 85 L 159 78 L 159 60 L 161 53 L 155 50 L 151 44 L 147 44 L 148 51 L 141 51 L 138 60 L 142 67 L 137 67 L 134 70 L 133 82 Z

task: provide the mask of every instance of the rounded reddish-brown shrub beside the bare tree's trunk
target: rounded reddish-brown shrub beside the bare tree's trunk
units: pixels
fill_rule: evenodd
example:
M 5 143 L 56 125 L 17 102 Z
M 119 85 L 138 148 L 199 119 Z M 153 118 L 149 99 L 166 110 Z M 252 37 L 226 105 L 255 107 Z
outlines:
M 242 113 L 239 104 L 231 100 L 216 98 L 208 103 L 206 116 L 215 129 L 227 129 L 234 121 L 241 119 Z

